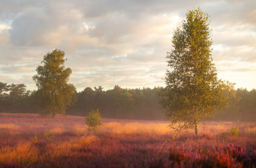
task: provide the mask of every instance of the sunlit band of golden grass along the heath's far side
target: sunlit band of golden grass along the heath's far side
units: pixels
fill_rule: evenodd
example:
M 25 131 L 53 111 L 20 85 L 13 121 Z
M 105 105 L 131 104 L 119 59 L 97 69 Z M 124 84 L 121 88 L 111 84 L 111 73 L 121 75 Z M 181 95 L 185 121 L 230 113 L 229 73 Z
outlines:
M 150 135 L 170 135 L 175 133 L 168 127 L 167 122 L 105 122 L 104 125 L 96 130 L 97 133 L 113 133 L 113 134 L 150 134 Z M 251 135 L 256 134 L 256 124 L 249 122 L 205 122 L 198 125 L 199 133 L 209 133 L 213 136 L 219 133 L 228 132 L 232 126 L 239 127 L 241 132 Z M 26 127 L 26 129 L 24 129 Z M 61 135 L 63 133 L 73 133 L 77 135 L 87 135 L 88 130 L 85 124 L 55 124 L 42 125 L 39 124 L 0 124 L 0 129 L 8 129 L 8 133 L 17 133 L 17 130 L 41 130 L 45 133 Z M 15 132 L 13 132 L 13 131 Z M 32 132 L 35 132 L 32 131 Z M 193 133 L 194 130 L 186 130 Z

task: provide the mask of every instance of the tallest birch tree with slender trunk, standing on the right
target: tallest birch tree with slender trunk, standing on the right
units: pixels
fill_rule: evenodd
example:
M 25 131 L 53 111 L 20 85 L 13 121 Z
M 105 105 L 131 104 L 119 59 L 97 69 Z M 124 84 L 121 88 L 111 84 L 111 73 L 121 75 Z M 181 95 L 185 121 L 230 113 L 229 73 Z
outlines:
M 171 71 L 167 70 L 166 87 L 160 93 L 170 127 L 194 128 L 197 135 L 198 122 L 213 118 L 228 105 L 222 94 L 223 82 L 212 63 L 208 17 L 199 8 L 189 11 L 181 28 L 175 30 L 174 49 L 166 57 Z

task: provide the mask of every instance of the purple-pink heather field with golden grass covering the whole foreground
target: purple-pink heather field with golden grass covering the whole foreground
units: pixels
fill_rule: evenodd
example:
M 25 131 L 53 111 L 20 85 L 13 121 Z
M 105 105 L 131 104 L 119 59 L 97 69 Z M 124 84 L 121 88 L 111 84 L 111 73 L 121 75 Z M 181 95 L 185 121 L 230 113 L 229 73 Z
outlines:
M 0 167 L 256 167 L 256 123 L 206 122 L 180 135 L 168 122 L 0 113 Z M 232 134 L 239 127 L 239 136 Z

